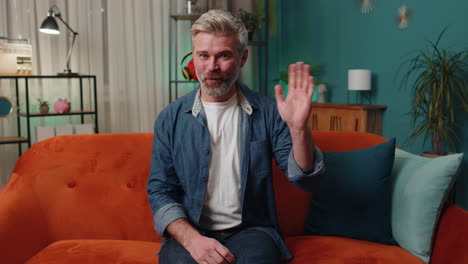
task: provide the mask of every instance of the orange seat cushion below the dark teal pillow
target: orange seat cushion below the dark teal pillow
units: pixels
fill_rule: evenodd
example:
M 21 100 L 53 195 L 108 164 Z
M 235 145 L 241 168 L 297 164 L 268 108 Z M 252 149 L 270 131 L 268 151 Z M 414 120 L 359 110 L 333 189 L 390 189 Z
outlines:
M 293 260 L 288 264 L 425 264 L 398 246 L 330 236 L 286 238 Z

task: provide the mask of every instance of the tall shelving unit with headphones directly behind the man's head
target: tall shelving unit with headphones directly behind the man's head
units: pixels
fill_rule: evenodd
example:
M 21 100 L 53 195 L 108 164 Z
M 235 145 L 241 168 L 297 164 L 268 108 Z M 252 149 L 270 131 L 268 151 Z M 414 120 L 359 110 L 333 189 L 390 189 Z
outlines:
M 268 2 L 265 0 L 265 10 L 268 10 Z M 169 102 L 179 98 L 179 89 L 183 86 L 192 84 L 193 88 L 198 86 L 198 81 L 185 80 L 182 77 L 182 68 L 180 65 L 180 60 L 182 58 L 179 52 L 179 30 L 178 26 L 180 22 L 190 22 L 193 23 L 197 20 L 201 14 L 183 14 L 180 13 L 179 7 L 177 6 L 178 1 L 171 1 L 170 4 L 170 21 L 169 21 Z M 228 4 L 231 6 L 231 4 Z M 232 10 L 231 10 L 232 12 Z M 265 20 L 263 24 L 263 30 L 260 40 L 249 41 L 248 45 L 259 49 L 259 58 L 250 57 L 249 60 L 260 59 L 259 65 L 263 65 L 261 68 L 260 77 L 259 77 L 259 92 L 261 94 L 267 95 L 267 85 L 268 85 L 268 12 L 265 12 Z M 190 31 L 187 31 L 185 34 L 190 35 Z M 190 45 L 191 46 L 191 45 Z M 188 60 L 185 62 L 187 64 Z M 251 87 L 253 88 L 253 87 Z

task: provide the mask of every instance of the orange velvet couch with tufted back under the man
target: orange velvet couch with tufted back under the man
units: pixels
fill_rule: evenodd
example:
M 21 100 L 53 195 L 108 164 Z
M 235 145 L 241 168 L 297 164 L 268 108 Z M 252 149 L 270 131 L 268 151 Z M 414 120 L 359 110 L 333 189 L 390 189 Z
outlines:
M 314 138 L 323 151 L 386 140 L 359 132 L 314 132 Z M 152 139 L 151 133 L 73 135 L 32 146 L 0 192 L 0 263 L 158 263 L 161 239 L 146 193 Z M 278 169 L 274 181 L 290 263 L 424 263 L 397 246 L 304 236 L 310 194 Z M 432 263 L 468 263 L 467 248 L 468 213 L 451 205 Z

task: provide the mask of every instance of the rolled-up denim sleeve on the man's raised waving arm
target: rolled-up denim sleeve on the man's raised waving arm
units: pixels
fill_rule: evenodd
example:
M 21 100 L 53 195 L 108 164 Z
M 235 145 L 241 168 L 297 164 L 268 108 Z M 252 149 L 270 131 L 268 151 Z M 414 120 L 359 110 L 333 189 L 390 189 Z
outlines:
M 313 191 L 317 188 L 320 176 L 325 171 L 323 153 L 315 146 L 315 163 L 313 170 L 302 170 L 297 164 L 293 151 L 288 157 L 288 179 L 296 187 L 305 191 Z

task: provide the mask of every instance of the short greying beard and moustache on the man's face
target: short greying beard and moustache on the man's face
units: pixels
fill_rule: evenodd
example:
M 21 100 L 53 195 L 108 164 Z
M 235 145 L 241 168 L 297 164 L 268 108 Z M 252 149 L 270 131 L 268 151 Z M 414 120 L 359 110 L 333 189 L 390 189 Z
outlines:
M 200 86 L 204 93 L 212 97 L 221 97 L 229 92 L 233 84 L 237 81 L 240 74 L 240 67 L 236 67 L 235 71 L 229 75 L 219 75 L 217 73 L 211 73 L 208 76 L 203 75 L 197 69 L 195 69 L 197 77 L 200 80 Z M 220 78 L 221 83 L 209 84 L 206 79 L 209 78 Z

